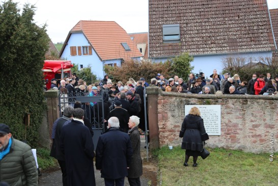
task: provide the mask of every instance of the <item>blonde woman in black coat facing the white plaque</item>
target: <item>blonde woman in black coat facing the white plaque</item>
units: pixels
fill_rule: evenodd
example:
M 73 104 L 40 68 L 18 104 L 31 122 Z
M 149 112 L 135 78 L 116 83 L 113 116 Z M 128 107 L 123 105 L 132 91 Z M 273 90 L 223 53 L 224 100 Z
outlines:
M 197 167 L 198 156 L 201 155 L 201 151 L 204 149 L 201 136 L 206 133 L 206 130 L 200 115 L 199 109 L 192 107 L 181 125 L 179 135 L 180 138 L 183 138 L 181 148 L 186 149 L 184 166 L 188 166 L 188 159 L 190 156 L 193 156 L 193 167 Z

